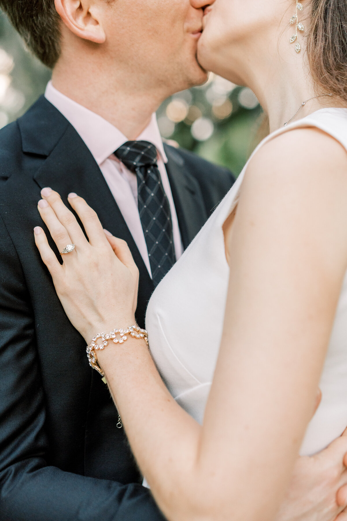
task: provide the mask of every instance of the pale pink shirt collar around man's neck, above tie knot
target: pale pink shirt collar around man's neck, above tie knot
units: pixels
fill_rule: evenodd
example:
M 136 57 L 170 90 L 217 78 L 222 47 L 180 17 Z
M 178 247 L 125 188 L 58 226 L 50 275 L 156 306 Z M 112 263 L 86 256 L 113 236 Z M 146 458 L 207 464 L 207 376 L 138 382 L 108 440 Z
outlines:
M 99 166 L 128 141 L 125 135 L 109 121 L 55 89 L 52 81 L 47 84 L 45 98 L 66 117 L 80 134 Z M 149 125 L 137 140 L 153 143 L 163 162 L 168 162 L 155 113 L 152 114 Z

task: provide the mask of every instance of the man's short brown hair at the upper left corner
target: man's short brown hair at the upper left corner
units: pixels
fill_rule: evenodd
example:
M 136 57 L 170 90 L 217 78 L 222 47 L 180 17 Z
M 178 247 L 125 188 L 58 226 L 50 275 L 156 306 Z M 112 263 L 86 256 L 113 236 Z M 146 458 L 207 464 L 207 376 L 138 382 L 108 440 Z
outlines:
M 54 0 L 0 0 L 0 7 L 30 51 L 53 68 L 60 54 L 60 17 Z

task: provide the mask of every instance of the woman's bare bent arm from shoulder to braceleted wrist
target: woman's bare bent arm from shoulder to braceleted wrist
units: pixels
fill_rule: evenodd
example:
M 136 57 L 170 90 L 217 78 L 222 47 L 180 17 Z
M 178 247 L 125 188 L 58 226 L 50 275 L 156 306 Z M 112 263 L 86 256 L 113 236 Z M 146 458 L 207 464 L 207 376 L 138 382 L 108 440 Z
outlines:
M 47 200 L 57 214 L 54 197 Z M 144 343 L 99 352 L 137 462 L 169 520 L 275 517 L 312 415 L 347 266 L 346 197 L 346 154 L 324 134 L 287 133 L 252 159 L 226 237 L 225 324 L 202 427 L 174 402 Z M 83 221 L 83 200 L 70 203 Z M 52 216 L 40 212 L 49 227 Z M 36 242 L 43 253 L 43 234 Z M 59 294 L 59 269 L 48 253 L 43 258 Z M 72 296 L 63 293 L 74 323 Z M 111 296 L 105 305 L 105 320 L 80 328 L 88 342 L 96 330 L 133 317 L 132 306 L 121 308 Z

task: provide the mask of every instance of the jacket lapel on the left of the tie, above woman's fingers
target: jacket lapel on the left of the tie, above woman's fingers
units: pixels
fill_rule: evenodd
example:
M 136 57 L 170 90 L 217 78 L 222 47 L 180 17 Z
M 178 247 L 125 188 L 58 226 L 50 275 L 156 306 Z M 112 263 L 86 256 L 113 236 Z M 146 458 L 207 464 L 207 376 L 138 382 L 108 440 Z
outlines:
M 143 322 L 153 283 L 93 155 L 78 132 L 45 98 L 40 98 L 18 120 L 18 125 L 23 152 L 48 156 L 33 176 L 40 188 L 50 187 L 56 190 L 66 204 L 68 194 L 76 192 L 96 211 L 104 228 L 127 242 L 140 272 L 138 301 L 141 308 L 140 319 Z

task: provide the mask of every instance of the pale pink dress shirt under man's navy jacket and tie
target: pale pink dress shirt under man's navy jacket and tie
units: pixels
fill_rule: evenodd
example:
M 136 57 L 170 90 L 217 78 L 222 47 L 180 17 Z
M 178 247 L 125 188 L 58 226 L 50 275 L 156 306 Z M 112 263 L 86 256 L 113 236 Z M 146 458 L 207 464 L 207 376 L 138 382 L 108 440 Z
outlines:
M 137 178 L 113 154 L 128 139 L 106 119 L 61 94 L 54 88 L 51 81 L 47 84 L 45 97 L 66 117 L 91 151 L 151 276 L 146 240 L 137 207 Z M 165 168 L 168 158 L 164 151 L 156 114 L 152 114 L 148 127 L 138 136 L 137 140 L 149 141 L 157 148 L 158 168 L 170 203 L 175 254 L 178 260 L 183 253 L 183 246 L 168 173 Z

